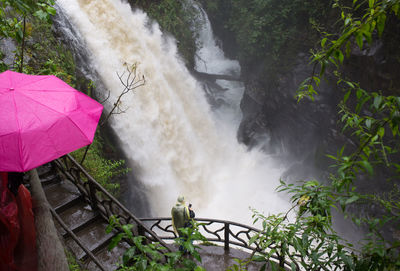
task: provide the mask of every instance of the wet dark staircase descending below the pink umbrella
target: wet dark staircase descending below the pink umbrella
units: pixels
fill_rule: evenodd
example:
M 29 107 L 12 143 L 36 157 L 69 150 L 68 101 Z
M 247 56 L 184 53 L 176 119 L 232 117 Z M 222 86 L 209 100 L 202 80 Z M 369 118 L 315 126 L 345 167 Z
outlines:
M 63 179 L 49 163 L 38 168 L 43 190 L 51 206 L 54 223 L 64 245 L 87 270 L 114 270 L 128 248 L 122 243 L 108 251 L 117 234 L 106 233 L 108 222 L 85 202 L 77 187 Z

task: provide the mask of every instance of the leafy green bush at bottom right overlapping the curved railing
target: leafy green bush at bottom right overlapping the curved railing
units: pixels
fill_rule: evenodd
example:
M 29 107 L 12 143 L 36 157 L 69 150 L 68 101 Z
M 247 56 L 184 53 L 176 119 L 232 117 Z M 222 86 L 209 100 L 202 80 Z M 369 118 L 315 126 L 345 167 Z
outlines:
M 253 210 L 254 223 L 262 221 L 262 231 L 249 241 L 261 247 L 261 253 L 253 256 L 254 261 L 265 261 L 272 270 L 284 270 L 284 266 L 290 266 L 291 270 L 397 270 L 400 267 L 398 242 L 388 246 L 376 234 L 382 226 L 378 225 L 381 219 L 369 222 L 370 235 L 361 250 L 333 230 L 330 209 L 339 202 L 348 206 L 359 199 L 358 195 L 338 195 L 332 186 L 317 181 L 303 185 L 281 181 L 280 191 L 292 194 L 295 203 L 286 214 L 264 216 Z M 296 217 L 288 219 L 295 209 L 298 210 Z

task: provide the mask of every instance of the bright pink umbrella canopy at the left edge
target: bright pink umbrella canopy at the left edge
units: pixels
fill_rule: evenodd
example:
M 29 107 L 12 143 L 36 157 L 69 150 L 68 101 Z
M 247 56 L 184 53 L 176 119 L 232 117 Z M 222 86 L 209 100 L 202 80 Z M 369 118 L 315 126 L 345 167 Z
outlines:
M 0 74 L 0 171 L 27 171 L 93 141 L 103 106 L 53 75 Z

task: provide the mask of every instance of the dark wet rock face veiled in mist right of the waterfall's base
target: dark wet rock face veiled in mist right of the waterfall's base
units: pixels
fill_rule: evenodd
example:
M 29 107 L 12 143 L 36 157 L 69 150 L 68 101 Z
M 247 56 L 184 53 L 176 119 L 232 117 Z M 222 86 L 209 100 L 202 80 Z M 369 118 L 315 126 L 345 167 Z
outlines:
M 261 144 L 267 152 L 300 163 L 314 163 L 323 153 L 333 151 L 339 98 L 335 86 L 323 82 L 316 102 L 303 99 L 298 103 L 295 98 L 311 69 L 308 56 L 299 54 L 293 69 L 275 80 L 270 81 L 262 74 L 244 75 L 246 90 L 241 102 L 244 117 L 239 140 L 250 147 Z

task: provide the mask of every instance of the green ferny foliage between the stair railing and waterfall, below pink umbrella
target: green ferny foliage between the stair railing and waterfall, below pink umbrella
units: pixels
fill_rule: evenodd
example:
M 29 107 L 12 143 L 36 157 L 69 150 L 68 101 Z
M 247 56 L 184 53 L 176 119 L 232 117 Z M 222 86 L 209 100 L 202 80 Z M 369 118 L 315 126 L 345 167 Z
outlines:
M 114 196 L 118 196 L 120 192 L 120 184 L 115 181 L 115 178 L 128 173 L 130 168 L 125 167 L 124 160 L 112 161 L 106 159 L 103 155 L 103 145 L 104 143 L 102 138 L 99 133 L 96 132 L 93 143 L 87 151 L 83 166 L 107 191 Z M 80 162 L 85 155 L 85 151 L 86 147 L 80 148 L 79 150 L 74 151 L 72 156 Z

